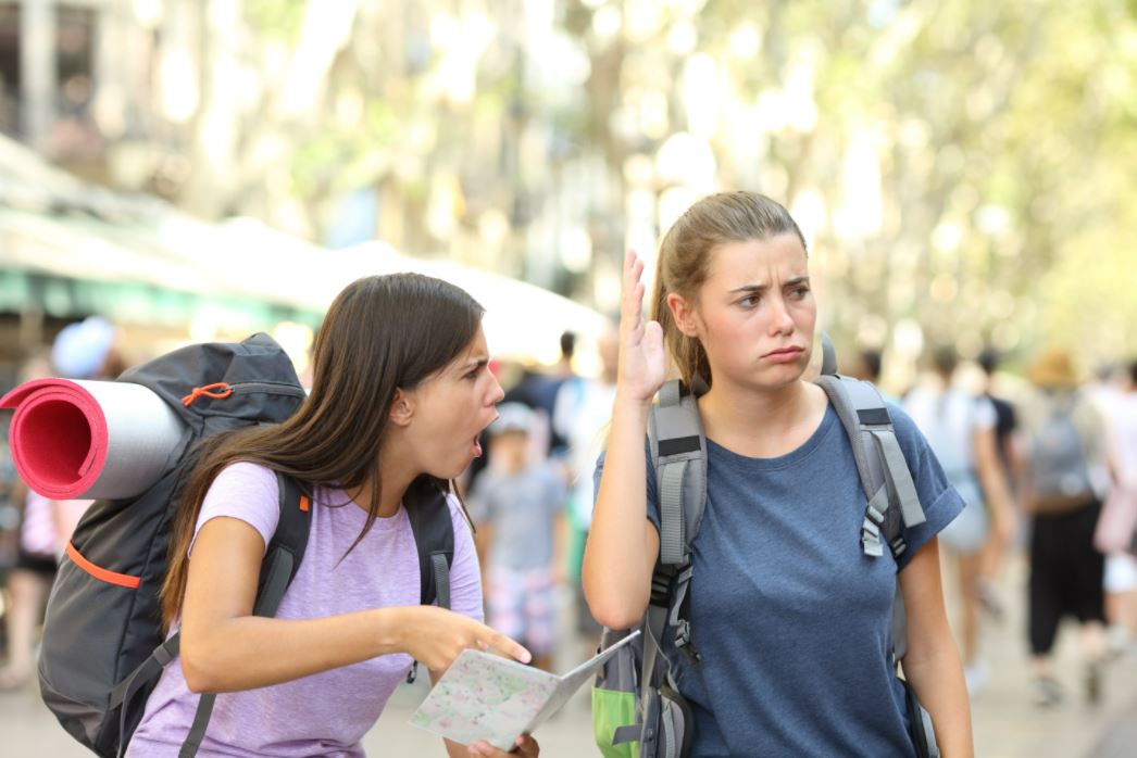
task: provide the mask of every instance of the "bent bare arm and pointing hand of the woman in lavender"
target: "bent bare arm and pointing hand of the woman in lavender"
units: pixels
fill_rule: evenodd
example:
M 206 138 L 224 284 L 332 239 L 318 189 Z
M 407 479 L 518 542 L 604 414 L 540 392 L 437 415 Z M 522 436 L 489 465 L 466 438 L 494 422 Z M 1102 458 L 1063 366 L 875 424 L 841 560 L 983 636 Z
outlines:
M 433 606 L 309 619 L 252 616 L 263 552 L 260 533 L 236 518 L 210 519 L 198 533 L 182 608 L 182 670 L 190 690 L 250 690 L 392 652 L 408 652 L 432 670 L 445 669 L 466 648 L 491 647 L 529 660 L 516 642 Z

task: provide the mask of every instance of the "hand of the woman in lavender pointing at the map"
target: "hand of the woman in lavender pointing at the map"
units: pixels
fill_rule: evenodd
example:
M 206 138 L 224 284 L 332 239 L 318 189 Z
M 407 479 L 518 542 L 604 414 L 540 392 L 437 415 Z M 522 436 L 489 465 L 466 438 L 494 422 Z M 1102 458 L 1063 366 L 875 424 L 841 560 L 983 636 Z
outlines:
M 399 649 L 432 672 L 446 670 L 463 650 L 485 650 L 523 664 L 532 660 L 525 648 L 473 618 L 437 606 L 399 608 Z

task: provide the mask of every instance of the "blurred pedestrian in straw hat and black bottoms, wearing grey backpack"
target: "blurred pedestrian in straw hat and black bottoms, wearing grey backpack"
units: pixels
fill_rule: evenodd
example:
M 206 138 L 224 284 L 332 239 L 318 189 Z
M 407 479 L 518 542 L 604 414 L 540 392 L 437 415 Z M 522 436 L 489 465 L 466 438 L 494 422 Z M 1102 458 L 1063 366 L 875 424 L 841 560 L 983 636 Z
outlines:
M 1037 392 L 1023 403 L 1019 497 L 1032 518 L 1028 613 L 1034 700 L 1053 706 L 1063 698 L 1051 651 L 1059 622 L 1073 616 L 1081 624 L 1086 699 L 1096 703 L 1105 652 L 1105 557 L 1094 547 L 1094 530 L 1106 485 L 1105 428 L 1079 392 L 1073 360 L 1064 350 L 1038 356 L 1028 378 Z

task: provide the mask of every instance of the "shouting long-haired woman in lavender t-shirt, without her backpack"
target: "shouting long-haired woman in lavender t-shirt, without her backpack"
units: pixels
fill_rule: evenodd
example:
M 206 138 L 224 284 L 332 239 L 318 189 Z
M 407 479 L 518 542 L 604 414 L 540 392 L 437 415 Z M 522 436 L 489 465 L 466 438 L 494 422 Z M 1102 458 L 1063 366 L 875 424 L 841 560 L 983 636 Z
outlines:
M 482 308 L 414 274 L 349 285 L 321 327 L 312 393 L 279 426 L 211 438 L 174 519 L 163 620 L 181 658 L 147 701 L 130 756 L 176 756 L 199 692 L 216 692 L 199 756 L 363 756 L 412 660 L 435 678 L 467 648 L 528 661 L 481 623 L 478 559 L 450 498 L 451 608 L 421 606 L 402 506 L 420 477 L 442 484 L 481 453 L 501 388 L 488 370 Z M 252 616 L 279 519 L 275 472 L 312 493 L 304 561 L 274 618 Z M 450 756 L 504 756 L 484 742 Z M 518 738 L 515 751 L 538 755 Z

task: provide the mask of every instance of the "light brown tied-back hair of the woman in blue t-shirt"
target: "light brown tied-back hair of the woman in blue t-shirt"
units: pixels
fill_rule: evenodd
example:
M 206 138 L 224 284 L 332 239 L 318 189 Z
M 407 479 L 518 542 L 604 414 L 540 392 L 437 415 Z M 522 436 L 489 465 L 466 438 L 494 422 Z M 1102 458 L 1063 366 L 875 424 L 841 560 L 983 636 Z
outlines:
M 667 352 L 688 386 L 695 376 L 703 377 L 709 385 L 711 364 L 703 343 L 679 330 L 667 307 L 667 295 L 675 292 L 689 302 L 697 302 L 715 247 L 724 242 L 767 240 L 780 234 L 796 234 L 802 249 L 806 249 L 802 230 L 780 203 L 756 192 L 720 192 L 688 208 L 663 238 L 655 272 L 652 319 L 663 327 Z

